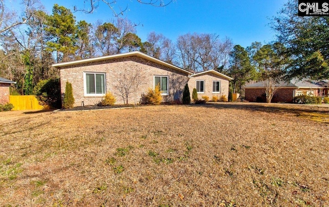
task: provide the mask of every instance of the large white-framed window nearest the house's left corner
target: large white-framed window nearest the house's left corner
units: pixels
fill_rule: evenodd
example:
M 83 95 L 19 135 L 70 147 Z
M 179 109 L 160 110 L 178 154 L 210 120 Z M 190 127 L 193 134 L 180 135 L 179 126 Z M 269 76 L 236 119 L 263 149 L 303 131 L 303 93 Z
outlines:
M 85 72 L 84 91 L 85 96 L 104 96 L 105 73 Z

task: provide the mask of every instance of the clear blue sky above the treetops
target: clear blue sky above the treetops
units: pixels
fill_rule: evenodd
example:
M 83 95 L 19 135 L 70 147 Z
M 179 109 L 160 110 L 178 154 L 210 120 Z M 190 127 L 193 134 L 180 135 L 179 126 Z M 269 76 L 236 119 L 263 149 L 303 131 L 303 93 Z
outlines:
M 83 8 L 82 0 L 79 0 L 80 5 L 74 0 L 41 2 L 49 14 L 55 3 L 71 10 L 75 5 Z M 137 0 L 117 0 L 115 8 L 127 7 L 123 17 L 138 24 L 137 35 L 143 42 L 152 31 L 162 33 L 174 42 L 179 35 L 197 32 L 216 33 L 221 39 L 227 36 L 234 45 L 247 47 L 255 41 L 264 44 L 275 40 L 275 31 L 268 24 L 270 18 L 276 16 L 286 2 L 287 0 L 175 0 L 166 7 L 153 7 L 140 4 Z M 97 20 L 111 22 L 115 18 L 111 10 L 102 3 L 92 14 L 75 12 L 74 15 L 77 21 L 85 20 L 88 23 L 95 23 Z

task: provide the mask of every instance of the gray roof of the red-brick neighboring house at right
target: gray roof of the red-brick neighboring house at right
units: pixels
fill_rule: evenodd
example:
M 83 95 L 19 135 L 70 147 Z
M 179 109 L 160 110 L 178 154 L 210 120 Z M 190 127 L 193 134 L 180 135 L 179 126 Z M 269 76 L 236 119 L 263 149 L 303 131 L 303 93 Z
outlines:
M 253 84 L 248 84 L 245 86 L 245 88 L 264 88 L 264 82 L 260 81 Z M 310 83 L 306 80 L 298 80 L 293 79 L 290 80 L 290 82 L 280 81 L 275 85 L 275 87 L 281 87 L 281 88 L 319 88 L 321 86 Z

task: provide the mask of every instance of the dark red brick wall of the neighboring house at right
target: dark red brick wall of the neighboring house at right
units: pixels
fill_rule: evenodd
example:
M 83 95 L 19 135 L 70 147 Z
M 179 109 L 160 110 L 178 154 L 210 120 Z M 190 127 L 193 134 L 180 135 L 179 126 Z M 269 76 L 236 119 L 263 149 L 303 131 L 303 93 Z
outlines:
M 272 103 L 276 102 L 293 102 L 295 88 L 279 88 L 273 98 Z M 262 97 L 265 93 L 264 88 L 246 88 L 245 89 L 245 100 L 255 102 L 257 97 Z

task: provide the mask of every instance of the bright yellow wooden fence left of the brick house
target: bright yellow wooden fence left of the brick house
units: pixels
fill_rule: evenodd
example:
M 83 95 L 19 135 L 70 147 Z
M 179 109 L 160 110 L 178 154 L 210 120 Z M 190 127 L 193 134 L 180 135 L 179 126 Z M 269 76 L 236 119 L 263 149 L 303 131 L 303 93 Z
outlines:
M 9 103 L 14 105 L 12 110 L 42 110 L 49 109 L 49 106 L 39 104 L 35 96 L 9 96 Z

